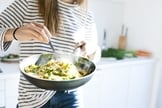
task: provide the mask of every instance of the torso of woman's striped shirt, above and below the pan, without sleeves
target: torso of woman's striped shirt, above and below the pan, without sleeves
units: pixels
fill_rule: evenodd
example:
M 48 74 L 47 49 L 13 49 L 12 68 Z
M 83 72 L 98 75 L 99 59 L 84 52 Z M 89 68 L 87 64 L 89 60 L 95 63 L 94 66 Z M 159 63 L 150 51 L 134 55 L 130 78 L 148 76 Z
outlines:
M 28 0 L 28 10 L 25 13 L 23 25 L 30 22 L 44 23 L 44 20 L 38 13 L 38 1 Z M 61 18 L 61 25 L 59 27 L 58 36 L 51 38 L 52 44 L 56 51 L 64 53 L 73 53 L 75 43 L 82 41 L 89 34 L 88 26 L 90 25 L 91 16 L 86 14 L 81 15 L 80 9 L 76 5 L 69 5 L 58 0 L 59 16 Z M 87 20 L 88 19 L 88 20 Z M 87 26 L 87 28 L 84 27 Z M 87 29 L 87 30 L 86 30 Z M 41 54 L 52 52 L 50 46 L 46 43 L 37 41 L 20 42 L 20 57 L 26 58 L 33 54 Z M 28 82 L 22 75 L 19 83 L 19 106 L 30 108 L 33 106 L 40 107 L 47 102 L 55 91 L 47 91 L 39 89 Z

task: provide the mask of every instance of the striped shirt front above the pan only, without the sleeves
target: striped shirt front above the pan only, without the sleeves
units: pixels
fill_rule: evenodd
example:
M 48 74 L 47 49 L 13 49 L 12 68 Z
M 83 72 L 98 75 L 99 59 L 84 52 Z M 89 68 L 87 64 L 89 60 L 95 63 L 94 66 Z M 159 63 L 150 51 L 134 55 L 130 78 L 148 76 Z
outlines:
M 87 17 L 86 15 L 81 15 L 81 12 L 84 11 L 80 11 L 76 5 L 69 5 L 59 1 L 58 6 L 61 23 L 58 28 L 58 35 L 53 36 L 51 41 L 56 51 L 73 53 L 75 44 L 85 39 L 86 28 L 84 25 L 86 25 L 85 21 Z M 24 24 L 30 22 L 44 23 L 43 18 L 38 13 L 37 0 L 29 2 Z M 20 56 L 22 59 L 32 54 L 47 53 L 51 51 L 47 43 L 40 43 L 38 41 L 20 43 Z

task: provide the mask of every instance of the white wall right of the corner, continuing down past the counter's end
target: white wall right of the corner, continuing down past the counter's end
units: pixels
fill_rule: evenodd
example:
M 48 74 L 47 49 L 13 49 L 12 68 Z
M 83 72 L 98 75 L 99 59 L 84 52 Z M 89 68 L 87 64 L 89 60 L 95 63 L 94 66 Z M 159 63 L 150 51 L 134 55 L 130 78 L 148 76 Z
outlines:
M 129 27 L 128 49 L 148 50 L 158 59 L 150 108 L 162 108 L 162 1 L 127 1 L 124 21 Z

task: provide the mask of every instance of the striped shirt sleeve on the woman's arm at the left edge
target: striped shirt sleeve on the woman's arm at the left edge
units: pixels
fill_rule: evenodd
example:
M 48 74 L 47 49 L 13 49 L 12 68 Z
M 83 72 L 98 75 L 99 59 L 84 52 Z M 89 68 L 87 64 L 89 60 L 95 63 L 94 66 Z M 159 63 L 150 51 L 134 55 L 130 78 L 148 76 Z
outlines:
M 0 14 L 0 51 L 6 51 L 12 41 L 4 42 L 4 36 L 8 29 L 23 25 L 28 3 L 26 0 L 15 0 Z

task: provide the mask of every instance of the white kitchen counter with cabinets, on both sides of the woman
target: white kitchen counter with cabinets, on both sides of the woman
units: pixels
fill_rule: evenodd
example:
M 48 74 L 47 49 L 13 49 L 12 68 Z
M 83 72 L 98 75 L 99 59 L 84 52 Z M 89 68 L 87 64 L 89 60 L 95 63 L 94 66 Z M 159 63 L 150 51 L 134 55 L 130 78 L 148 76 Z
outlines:
M 85 108 L 148 108 L 155 64 L 153 58 L 101 58 L 96 74 L 83 87 Z M 19 63 L 0 62 L 0 68 L 0 107 L 13 108 L 18 97 Z

